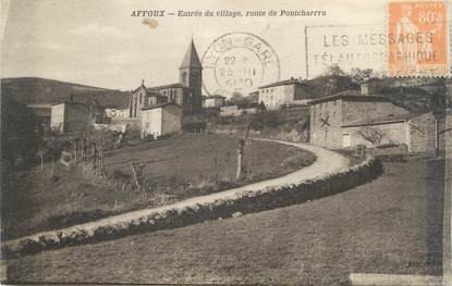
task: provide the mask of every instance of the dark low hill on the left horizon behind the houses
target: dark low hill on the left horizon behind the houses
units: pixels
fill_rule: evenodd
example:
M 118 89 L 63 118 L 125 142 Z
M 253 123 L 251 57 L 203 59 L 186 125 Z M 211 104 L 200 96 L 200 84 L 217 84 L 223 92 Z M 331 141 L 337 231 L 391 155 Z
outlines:
M 1 94 L 14 97 L 24 104 L 51 104 L 71 99 L 86 102 L 93 97 L 95 103 L 106 107 L 127 107 L 129 92 L 85 86 L 40 77 L 11 77 L 1 79 Z

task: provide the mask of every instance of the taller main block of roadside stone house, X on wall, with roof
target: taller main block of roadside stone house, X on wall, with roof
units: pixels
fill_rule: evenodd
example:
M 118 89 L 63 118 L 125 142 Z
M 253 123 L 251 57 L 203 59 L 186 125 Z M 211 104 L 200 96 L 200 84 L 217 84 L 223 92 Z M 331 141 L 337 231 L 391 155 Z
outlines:
M 343 126 L 354 122 L 408 114 L 400 107 L 379 96 L 363 96 L 356 90 L 346 90 L 309 103 L 310 142 L 330 149 L 340 149 L 347 144 Z

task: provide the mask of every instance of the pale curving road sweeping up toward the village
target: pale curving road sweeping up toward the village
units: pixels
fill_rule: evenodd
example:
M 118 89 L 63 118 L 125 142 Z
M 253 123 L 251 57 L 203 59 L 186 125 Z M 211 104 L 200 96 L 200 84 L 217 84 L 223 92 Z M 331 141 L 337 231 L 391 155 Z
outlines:
M 341 171 L 345 167 L 349 166 L 349 159 L 345 158 L 342 154 L 339 154 L 337 152 L 320 148 L 320 147 L 316 147 L 316 146 L 311 146 L 311 145 L 306 145 L 306 144 L 293 144 L 293 142 L 286 142 L 286 141 L 279 141 L 279 140 L 270 140 L 270 139 L 257 139 L 257 140 L 265 140 L 265 141 L 274 141 L 274 142 L 279 142 L 279 144 L 284 144 L 284 145 L 289 145 L 289 146 L 294 146 L 301 149 L 305 149 L 308 150 L 313 153 L 316 154 L 317 159 L 316 161 L 308 165 L 305 166 L 298 171 L 295 171 L 291 174 L 278 177 L 278 178 L 273 178 L 273 179 L 268 179 L 268 181 L 262 181 L 262 182 L 258 182 L 258 183 L 254 183 L 254 184 L 249 184 L 246 186 L 242 186 L 242 187 L 237 187 L 237 188 L 233 188 L 233 189 L 228 189 L 224 191 L 220 191 L 220 192 L 216 192 L 216 194 L 210 194 L 210 195 L 206 195 L 206 196 L 199 196 L 199 197 L 194 197 L 187 200 L 183 200 L 173 204 L 167 204 L 167 206 L 162 206 L 159 208 L 152 208 L 152 209 L 144 209 L 144 210 L 138 210 L 138 211 L 132 211 L 132 212 L 126 212 L 123 214 L 119 214 L 119 215 L 113 215 L 113 216 L 109 216 L 106 219 L 100 219 L 97 221 L 93 221 L 89 223 L 83 223 L 83 224 L 78 224 L 78 225 L 73 225 L 63 229 L 58 229 L 61 232 L 69 232 L 70 229 L 86 229 L 86 231 L 93 231 L 95 228 L 97 228 L 98 226 L 101 225 L 111 225 L 111 224 L 115 224 L 115 223 L 121 223 L 121 222 L 127 222 L 131 221 L 133 219 L 138 219 L 142 216 L 145 216 L 147 214 L 154 213 L 154 212 L 159 212 L 159 211 L 163 211 L 166 209 L 174 209 L 174 208 L 183 208 L 186 206 L 194 206 L 196 203 L 204 203 L 204 202 L 209 202 L 209 201 L 215 201 L 217 199 L 228 199 L 228 198 L 233 198 L 236 196 L 236 194 L 242 192 L 242 191 L 253 191 L 253 190 L 261 190 L 265 188 L 271 188 L 271 187 L 279 187 L 279 186 L 284 186 L 284 185 L 290 185 L 290 184 L 297 184 L 301 183 L 305 179 L 310 179 L 310 178 L 315 178 L 319 175 L 323 175 L 327 173 L 335 173 L 338 171 Z M 21 238 L 16 238 L 13 240 L 9 240 L 9 241 L 4 241 L 3 245 L 15 245 L 19 243 L 19 240 L 22 240 L 24 238 L 30 238 L 30 239 L 36 239 L 37 237 L 44 235 L 44 234 L 51 234 L 51 233 L 56 233 L 57 231 L 49 231 L 49 232 L 42 232 L 42 233 L 37 233 L 34 235 L 29 235 L 29 236 L 25 236 L 25 237 L 21 237 Z

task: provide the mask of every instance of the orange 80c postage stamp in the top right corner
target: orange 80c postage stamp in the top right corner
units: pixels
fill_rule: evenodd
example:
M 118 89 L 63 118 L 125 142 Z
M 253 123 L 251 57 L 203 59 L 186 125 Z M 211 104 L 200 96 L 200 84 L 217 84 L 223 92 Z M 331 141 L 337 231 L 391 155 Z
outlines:
M 449 75 L 445 1 L 391 1 L 388 10 L 389 76 Z

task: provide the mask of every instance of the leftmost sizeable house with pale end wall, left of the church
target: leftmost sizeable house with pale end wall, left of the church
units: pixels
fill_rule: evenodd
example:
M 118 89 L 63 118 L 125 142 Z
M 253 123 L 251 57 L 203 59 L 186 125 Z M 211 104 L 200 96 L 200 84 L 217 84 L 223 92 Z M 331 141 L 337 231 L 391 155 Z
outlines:
M 90 122 L 100 123 L 105 109 L 80 102 L 62 102 L 51 107 L 50 127 L 64 134 L 86 133 Z

